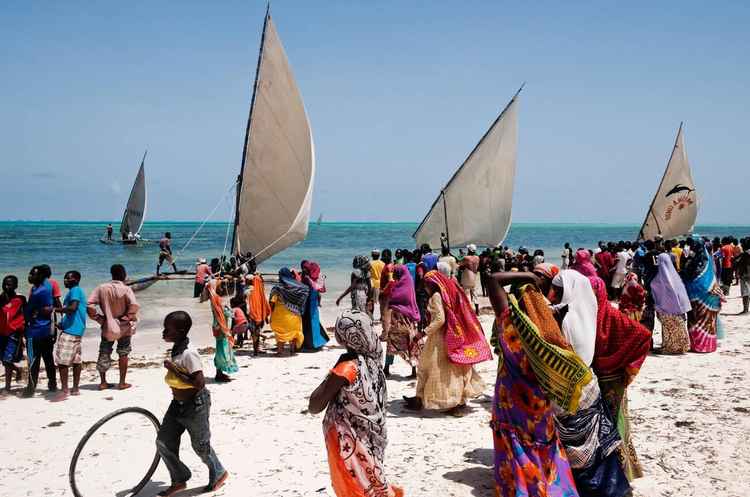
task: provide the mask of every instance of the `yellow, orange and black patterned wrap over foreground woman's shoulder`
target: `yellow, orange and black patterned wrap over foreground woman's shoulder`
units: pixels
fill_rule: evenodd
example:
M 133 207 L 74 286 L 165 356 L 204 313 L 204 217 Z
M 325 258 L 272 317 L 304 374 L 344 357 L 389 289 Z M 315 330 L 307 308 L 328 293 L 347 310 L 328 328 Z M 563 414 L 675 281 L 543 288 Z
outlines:
M 519 338 L 517 344 L 511 345 L 523 348 L 546 398 L 566 412 L 575 412 L 584 385 L 591 381 L 591 372 L 570 346 L 562 347 L 565 339 L 539 290 L 525 286 L 520 291 L 524 305 L 531 309 L 528 312 L 536 317 L 545 330 L 541 332 L 537 324 L 521 310 L 516 297 L 509 295 L 510 321 Z M 558 338 L 554 338 L 554 335 Z

